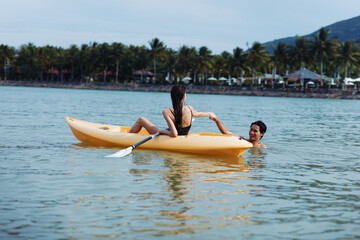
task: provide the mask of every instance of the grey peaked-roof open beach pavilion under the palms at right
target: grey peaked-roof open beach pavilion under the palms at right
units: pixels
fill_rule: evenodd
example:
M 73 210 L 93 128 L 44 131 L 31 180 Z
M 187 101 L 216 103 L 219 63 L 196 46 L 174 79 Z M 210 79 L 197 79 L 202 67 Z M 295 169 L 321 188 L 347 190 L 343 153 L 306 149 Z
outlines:
M 286 85 L 289 87 L 307 88 L 311 86 L 318 87 L 322 83 L 321 76 L 306 68 L 302 68 L 296 72 L 290 73 L 284 77 Z

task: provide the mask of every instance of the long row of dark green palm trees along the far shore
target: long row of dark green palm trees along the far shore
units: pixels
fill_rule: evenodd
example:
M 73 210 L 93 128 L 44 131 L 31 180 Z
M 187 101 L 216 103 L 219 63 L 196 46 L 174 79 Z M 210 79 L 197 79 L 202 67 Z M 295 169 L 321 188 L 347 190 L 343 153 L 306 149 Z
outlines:
M 278 43 L 272 54 L 259 42 L 247 50 L 237 47 L 232 53 L 213 54 L 206 46 L 174 50 L 154 38 L 148 46 L 93 42 L 65 49 L 28 43 L 16 49 L 1 44 L 0 64 L 1 79 L 62 83 L 123 83 L 131 81 L 135 71 L 148 70 L 156 75 L 156 83 L 189 76 L 194 84 L 207 84 L 209 76 L 284 76 L 303 67 L 321 76 L 344 78 L 360 76 L 360 47 L 330 38 L 321 28 L 311 39 L 296 38 L 294 46 Z

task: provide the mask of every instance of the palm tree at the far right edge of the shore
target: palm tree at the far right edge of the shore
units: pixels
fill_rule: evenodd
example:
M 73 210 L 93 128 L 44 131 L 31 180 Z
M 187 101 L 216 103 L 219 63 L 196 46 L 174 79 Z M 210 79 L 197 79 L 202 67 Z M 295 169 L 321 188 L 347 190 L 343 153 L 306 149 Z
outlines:
M 359 67 L 360 65 L 360 51 L 351 41 L 340 43 L 338 63 L 344 67 L 345 78 L 348 76 L 348 68 L 351 65 Z

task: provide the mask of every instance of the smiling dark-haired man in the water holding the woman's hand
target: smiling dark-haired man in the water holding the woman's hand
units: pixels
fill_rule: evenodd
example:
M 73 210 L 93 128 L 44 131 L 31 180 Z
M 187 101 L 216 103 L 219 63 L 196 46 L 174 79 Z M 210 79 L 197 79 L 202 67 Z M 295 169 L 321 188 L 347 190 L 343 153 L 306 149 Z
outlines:
M 216 125 L 218 126 L 219 130 L 221 133 L 223 134 L 227 134 L 227 135 L 233 135 L 242 139 L 245 139 L 235 133 L 230 132 L 221 122 L 220 120 L 217 118 L 217 116 L 215 114 L 211 115 L 209 117 L 211 120 L 213 120 Z M 253 122 L 250 125 L 250 130 L 249 130 L 249 139 L 245 139 L 246 141 L 249 141 L 253 144 L 254 148 L 266 148 L 266 145 L 260 142 L 260 139 L 262 139 L 262 137 L 264 136 L 266 132 L 266 125 L 265 123 L 263 123 L 262 121 L 256 121 Z

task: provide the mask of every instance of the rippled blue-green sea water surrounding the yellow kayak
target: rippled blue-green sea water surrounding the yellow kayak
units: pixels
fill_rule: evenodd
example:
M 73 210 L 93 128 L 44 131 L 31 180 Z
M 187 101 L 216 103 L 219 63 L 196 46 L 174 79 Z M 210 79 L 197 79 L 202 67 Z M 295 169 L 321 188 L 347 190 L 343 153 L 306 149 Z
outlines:
M 165 128 L 169 93 L 0 87 L 0 239 L 360 237 L 360 102 L 188 94 L 234 133 L 241 158 L 80 143 L 65 117 Z M 192 131 L 218 132 L 208 118 Z

